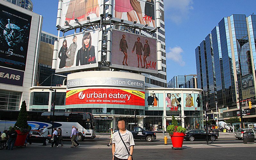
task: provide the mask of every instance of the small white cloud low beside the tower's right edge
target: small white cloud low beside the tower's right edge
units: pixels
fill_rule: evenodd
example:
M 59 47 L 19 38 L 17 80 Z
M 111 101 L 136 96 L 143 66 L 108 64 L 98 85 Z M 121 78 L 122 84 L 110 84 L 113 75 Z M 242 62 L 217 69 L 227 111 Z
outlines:
M 182 58 L 183 49 L 180 46 L 170 47 L 166 53 L 166 58 L 177 62 L 180 66 L 185 66 Z

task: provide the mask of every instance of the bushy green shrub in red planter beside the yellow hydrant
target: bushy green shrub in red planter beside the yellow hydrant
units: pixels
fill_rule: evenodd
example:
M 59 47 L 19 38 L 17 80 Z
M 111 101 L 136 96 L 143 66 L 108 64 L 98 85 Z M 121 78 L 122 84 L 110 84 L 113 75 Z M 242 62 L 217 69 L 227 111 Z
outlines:
M 168 125 L 166 131 L 172 139 L 172 148 L 182 148 L 186 129 L 178 126 L 178 122 L 174 116 L 172 116 L 172 124 Z

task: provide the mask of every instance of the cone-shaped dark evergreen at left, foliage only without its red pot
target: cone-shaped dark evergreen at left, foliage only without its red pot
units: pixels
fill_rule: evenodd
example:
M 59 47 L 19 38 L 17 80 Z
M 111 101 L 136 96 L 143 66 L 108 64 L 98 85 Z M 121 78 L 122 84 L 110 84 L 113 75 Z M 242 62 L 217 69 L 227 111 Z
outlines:
M 20 130 L 21 132 L 28 132 L 31 129 L 31 126 L 28 125 L 28 113 L 27 113 L 27 105 L 25 100 L 21 104 L 20 113 L 17 119 L 17 122 L 14 125 L 16 130 Z

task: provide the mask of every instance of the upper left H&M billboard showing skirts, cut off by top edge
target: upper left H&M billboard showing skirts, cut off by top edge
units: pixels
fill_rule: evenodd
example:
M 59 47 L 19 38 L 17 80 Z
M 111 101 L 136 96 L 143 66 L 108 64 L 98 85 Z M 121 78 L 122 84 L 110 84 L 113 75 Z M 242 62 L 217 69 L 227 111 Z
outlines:
M 63 0 L 60 26 L 100 17 L 100 0 Z

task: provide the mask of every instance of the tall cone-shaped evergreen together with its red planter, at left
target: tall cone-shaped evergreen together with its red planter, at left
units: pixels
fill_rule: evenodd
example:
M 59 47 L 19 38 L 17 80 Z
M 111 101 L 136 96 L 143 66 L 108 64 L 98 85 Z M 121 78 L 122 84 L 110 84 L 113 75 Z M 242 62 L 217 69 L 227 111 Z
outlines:
M 14 124 L 14 129 L 18 133 L 17 139 L 14 146 L 24 146 L 28 132 L 31 130 L 31 126 L 27 122 L 28 113 L 27 105 L 25 100 L 21 104 L 20 113 L 17 119 L 17 122 Z

